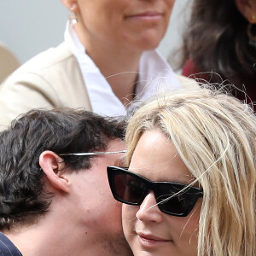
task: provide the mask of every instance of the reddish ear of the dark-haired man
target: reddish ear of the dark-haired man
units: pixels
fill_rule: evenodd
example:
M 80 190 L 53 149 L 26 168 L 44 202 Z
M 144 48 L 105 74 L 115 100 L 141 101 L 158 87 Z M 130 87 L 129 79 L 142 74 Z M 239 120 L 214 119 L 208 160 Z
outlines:
M 65 163 L 60 156 L 49 150 L 44 151 L 39 156 L 39 165 L 55 189 L 69 193 L 70 183 L 63 172 Z

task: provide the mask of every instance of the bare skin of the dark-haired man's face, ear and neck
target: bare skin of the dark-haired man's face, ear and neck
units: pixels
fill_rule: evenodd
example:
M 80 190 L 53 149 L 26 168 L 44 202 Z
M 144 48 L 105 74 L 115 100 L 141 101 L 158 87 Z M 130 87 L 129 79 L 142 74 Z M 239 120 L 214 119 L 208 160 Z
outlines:
M 106 151 L 124 148 L 125 144 L 115 139 Z M 96 156 L 89 170 L 70 172 L 59 156 L 44 151 L 39 163 L 46 175 L 45 190 L 54 194 L 49 212 L 35 225 L 16 227 L 5 234 L 26 256 L 131 256 L 121 225 L 121 204 L 113 199 L 106 170 L 107 166 L 119 166 L 123 156 Z

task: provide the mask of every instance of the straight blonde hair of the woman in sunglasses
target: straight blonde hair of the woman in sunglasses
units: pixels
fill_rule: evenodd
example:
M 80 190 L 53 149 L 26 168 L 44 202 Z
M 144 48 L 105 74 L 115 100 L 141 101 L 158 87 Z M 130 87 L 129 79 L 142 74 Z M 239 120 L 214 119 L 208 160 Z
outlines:
M 204 189 L 198 256 L 255 255 L 256 116 L 217 90 L 177 91 L 139 108 L 127 126 L 127 164 L 158 128 Z

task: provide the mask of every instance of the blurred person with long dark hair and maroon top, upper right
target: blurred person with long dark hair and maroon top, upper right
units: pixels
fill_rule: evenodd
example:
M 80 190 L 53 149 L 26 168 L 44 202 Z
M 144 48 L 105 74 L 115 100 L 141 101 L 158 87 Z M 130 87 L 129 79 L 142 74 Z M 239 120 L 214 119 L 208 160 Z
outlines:
M 181 67 L 190 78 L 231 82 L 234 96 L 256 102 L 256 1 L 194 0 Z

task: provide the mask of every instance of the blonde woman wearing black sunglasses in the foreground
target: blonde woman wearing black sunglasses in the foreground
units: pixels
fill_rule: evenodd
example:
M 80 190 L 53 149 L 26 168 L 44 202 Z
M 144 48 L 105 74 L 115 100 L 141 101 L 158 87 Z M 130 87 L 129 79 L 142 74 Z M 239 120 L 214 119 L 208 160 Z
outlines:
M 135 256 L 253 256 L 256 117 L 203 89 L 146 103 L 131 118 L 127 166 L 109 166 Z

